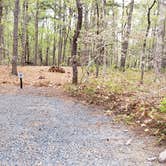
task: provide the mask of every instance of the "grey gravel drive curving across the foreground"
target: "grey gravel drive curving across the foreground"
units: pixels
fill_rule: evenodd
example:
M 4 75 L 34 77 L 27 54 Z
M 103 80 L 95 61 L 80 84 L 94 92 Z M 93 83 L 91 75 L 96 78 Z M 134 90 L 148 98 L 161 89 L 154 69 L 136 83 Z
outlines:
M 0 165 L 157 166 L 151 141 L 73 101 L 0 95 Z

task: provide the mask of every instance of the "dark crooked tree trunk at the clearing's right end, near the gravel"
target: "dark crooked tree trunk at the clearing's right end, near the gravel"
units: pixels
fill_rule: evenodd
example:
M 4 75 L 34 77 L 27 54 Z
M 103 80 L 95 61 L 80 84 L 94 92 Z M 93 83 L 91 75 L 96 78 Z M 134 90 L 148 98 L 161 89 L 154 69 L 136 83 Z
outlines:
M 73 84 L 78 83 L 78 69 L 77 69 L 77 41 L 80 35 L 80 31 L 82 28 L 82 4 L 80 0 L 76 0 L 77 10 L 78 10 L 78 18 L 77 18 L 77 27 L 73 36 L 73 44 L 72 44 L 72 68 L 73 68 Z

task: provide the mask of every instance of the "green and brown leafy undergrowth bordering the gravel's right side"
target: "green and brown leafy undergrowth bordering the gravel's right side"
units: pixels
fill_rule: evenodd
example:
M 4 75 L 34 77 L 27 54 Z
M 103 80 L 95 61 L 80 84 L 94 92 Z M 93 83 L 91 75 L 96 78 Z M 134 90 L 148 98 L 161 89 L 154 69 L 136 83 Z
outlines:
M 125 123 L 140 126 L 166 143 L 166 82 L 155 83 L 153 78 L 151 72 L 146 73 L 142 85 L 137 71 L 110 71 L 105 77 L 92 75 L 77 86 L 67 84 L 65 89 L 80 100 L 104 106 Z

